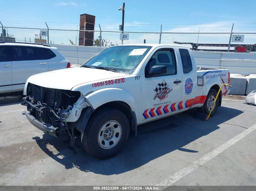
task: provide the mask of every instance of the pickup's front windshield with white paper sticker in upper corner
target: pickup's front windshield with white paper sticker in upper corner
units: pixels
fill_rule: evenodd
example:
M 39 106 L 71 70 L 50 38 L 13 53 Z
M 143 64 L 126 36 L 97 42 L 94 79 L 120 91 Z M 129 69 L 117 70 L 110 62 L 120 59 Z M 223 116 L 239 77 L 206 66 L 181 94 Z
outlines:
M 151 46 L 112 46 L 85 62 L 81 67 L 113 68 L 116 72 L 131 73 L 151 48 Z

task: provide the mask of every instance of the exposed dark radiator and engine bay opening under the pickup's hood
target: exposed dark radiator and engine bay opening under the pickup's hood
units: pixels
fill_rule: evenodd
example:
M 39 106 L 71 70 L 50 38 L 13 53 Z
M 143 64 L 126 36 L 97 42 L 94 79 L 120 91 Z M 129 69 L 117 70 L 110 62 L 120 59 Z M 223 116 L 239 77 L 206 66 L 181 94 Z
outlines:
M 28 84 L 26 100 L 27 109 L 38 120 L 50 124 L 65 122 L 68 113 L 81 93 L 59 89 L 44 88 Z

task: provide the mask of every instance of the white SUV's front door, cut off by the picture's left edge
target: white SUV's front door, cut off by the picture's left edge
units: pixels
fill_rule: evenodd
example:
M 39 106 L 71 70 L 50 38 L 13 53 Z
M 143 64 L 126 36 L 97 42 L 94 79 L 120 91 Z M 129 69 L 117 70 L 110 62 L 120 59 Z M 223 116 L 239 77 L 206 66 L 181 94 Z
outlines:
M 12 92 L 12 62 L 9 46 L 0 46 L 0 93 Z

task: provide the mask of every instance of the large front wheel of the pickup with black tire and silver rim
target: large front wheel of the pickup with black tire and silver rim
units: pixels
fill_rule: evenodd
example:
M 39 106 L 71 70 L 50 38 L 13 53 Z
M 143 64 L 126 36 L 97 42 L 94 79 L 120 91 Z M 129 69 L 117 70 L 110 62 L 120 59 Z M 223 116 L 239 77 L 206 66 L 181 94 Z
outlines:
M 125 146 L 129 131 L 129 121 L 123 112 L 115 108 L 104 108 L 92 114 L 82 145 L 95 158 L 111 158 Z

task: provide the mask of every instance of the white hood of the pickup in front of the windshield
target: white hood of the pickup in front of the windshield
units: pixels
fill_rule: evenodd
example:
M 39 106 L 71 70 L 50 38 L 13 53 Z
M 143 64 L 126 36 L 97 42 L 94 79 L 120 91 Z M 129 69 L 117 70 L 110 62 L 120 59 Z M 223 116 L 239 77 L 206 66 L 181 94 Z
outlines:
M 32 75 L 28 78 L 27 83 L 29 82 L 45 88 L 71 90 L 79 84 L 126 75 L 128 74 L 94 68 L 65 68 Z

